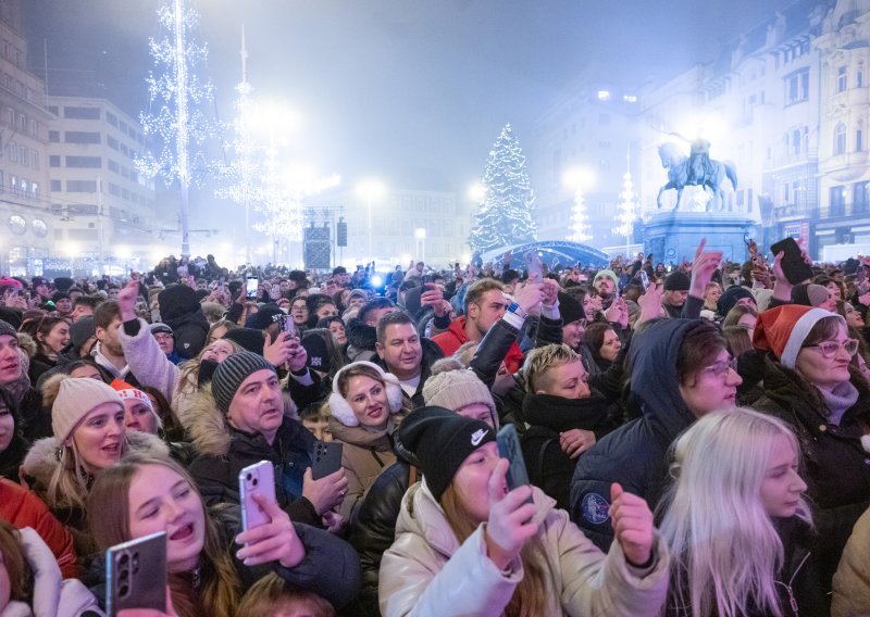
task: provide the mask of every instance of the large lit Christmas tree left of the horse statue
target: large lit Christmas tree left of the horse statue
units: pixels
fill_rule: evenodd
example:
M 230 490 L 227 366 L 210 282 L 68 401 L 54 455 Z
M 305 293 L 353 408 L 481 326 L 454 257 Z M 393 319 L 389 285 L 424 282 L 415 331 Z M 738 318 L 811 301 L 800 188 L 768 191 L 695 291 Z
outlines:
M 533 219 L 535 193 L 529 181 L 520 142 L 510 125 L 496 139 L 483 176 L 483 197 L 469 244 L 475 253 L 534 242 L 537 229 Z

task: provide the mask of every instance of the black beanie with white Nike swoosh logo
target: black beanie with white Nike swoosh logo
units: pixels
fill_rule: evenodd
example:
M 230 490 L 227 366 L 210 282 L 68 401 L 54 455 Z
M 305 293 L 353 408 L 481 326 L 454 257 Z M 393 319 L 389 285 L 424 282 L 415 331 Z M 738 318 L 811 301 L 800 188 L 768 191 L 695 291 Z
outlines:
M 421 407 L 399 426 L 399 440 L 414 453 L 426 486 L 436 501 L 462 462 L 482 445 L 496 440 L 486 423 L 465 418 L 444 407 Z

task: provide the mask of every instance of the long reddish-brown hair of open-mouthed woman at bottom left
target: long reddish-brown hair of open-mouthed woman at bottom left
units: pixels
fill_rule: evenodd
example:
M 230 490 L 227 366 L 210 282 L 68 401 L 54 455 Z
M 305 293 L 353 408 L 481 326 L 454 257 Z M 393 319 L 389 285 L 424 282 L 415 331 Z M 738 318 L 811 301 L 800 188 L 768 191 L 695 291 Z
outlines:
M 90 532 L 100 550 L 130 540 L 129 486 L 136 474 L 147 466 L 162 466 L 185 479 L 200 498 L 199 489 L 189 474 L 175 461 L 160 456 L 130 454 L 105 469 L 90 491 L 88 512 Z M 202 503 L 203 511 L 206 504 Z M 206 512 L 206 538 L 199 555 L 198 588 L 189 575 L 171 574 L 172 603 L 181 617 L 213 615 L 233 617 L 241 595 L 241 583 L 233 561 L 212 518 Z

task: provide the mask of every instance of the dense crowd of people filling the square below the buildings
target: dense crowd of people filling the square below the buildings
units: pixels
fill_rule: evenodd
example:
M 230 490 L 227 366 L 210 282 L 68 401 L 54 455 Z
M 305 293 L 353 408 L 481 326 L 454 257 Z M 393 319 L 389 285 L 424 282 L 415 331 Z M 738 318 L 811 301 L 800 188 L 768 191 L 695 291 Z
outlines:
M 0 615 L 102 615 L 158 531 L 122 615 L 870 615 L 870 259 L 811 272 L 2 278 Z

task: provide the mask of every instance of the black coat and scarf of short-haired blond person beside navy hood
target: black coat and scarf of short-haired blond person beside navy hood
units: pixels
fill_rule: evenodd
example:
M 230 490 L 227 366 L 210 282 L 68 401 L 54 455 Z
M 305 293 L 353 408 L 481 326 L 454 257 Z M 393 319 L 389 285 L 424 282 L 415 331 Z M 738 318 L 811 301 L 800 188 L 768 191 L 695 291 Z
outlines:
M 582 429 L 595 433 L 598 441 L 619 426 L 611 418 L 607 399 L 593 392 L 586 399 L 563 399 L 549 394 L 529 393 L 523 401 L 523 419 L 531 425 L 520 442 L 531 482 L 556 500 L 557 507 L 568 509 L 569 488 L 579 458 L 570 458 L 559 443 L 561 432 Z

